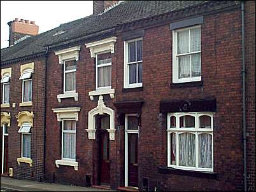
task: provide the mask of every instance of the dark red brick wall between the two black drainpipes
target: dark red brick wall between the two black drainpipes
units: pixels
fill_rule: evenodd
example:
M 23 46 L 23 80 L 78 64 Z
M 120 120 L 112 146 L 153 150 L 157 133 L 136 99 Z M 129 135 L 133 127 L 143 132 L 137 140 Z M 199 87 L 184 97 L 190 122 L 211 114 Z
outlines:
M 115 98 L 104 96 L 106 106 L 122 100 L 144 99 L 139 130 L 139 185 L 141 177 L 149 177 L 150 188 L 159 182 L 169 190 L 243 190 L 242 97 L 241 97 L 241 11 L 228 11 L 204 16 L 201 26 L 203 87 L 170 88 L 172 79 L 172 32 L 169 24 L 145 30 L 143 37 L 143 91 L 123 92 L 124 43 L 117 36 L 112 57 L 112 88 Z M 63 99 L 62 65 L 54 53 L 50 54 L 47 69 L 46 113 L 46 177 L 50 181 L 85 184 L 85 175 L 94 173 L 96 166 L 95 141 L 85 131 L 90 109 L 97 106 L 97 98 L 89 100 L 88 93 L 95 90 L 95 64 L 89 49 L 81 46 L 77 62 L 76 87 L 78 102 Z M 60 75 L 61 74 L 61 75 Z M 214 114 L 214 172 L 217 179 L 206 179 L 174 174 L 160 174 L 158 167 L 167 163 L 166 114 L 159 121 L 160 100 L 201 99 L 215 96 Z M 76 134 L 76 160 L 73 167 L 55 167 L 61 153 L 61 128 L 52 108 L 81 107 Z M 117 117 L 117 113 L 115 113 Z M 117 118 L 116 118 L 117 119 Z M 115 121 L 117 128 L 117 120 Z M 124 127 L 117 130 L 111 141 L 111 186 L 124 186 Z M 93 177 L 96 184 L 97 176 Z M 184 185 L 185 183 L 185 185 Z

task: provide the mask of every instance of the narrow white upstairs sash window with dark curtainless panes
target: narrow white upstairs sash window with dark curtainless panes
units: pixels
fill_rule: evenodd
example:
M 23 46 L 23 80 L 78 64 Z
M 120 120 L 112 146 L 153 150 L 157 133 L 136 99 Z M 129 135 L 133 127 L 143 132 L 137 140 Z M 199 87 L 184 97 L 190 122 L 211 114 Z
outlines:
M 125 41 L 125 72 L 124 87 L 142 86 L 143 74 L 143 41 L 134 39 Z

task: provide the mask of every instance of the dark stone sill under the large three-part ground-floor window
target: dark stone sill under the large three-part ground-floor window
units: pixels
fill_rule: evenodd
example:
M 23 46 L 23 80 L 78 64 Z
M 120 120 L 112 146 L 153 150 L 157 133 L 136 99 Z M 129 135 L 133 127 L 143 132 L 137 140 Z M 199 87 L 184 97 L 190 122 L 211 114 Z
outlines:
M 158 170 L 161 174 L 187 175 L 192 177 L 202 177 L 202 178 L 208 178 L 208 179 L 217 179 L 217 175 L 218 175 L 216 172 L 181 170 L 178 168 L 171 168 L 171 167 L 165 167 L 165 166 L 158 167 Z

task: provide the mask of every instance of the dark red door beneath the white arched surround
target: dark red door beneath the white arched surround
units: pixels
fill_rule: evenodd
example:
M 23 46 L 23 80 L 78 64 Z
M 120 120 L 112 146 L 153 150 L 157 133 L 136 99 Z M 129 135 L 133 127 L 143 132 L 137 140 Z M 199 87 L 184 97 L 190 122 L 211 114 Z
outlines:
M 110 184 L 110 139 L 107 130 L 99 130 L 100 184 Z

